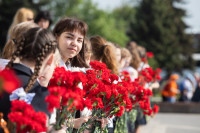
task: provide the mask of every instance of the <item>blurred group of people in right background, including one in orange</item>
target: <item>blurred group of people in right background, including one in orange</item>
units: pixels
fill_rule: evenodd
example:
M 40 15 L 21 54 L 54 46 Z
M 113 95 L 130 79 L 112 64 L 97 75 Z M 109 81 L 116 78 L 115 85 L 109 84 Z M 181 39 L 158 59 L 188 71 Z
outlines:
M 181 79 L 178 74 L 172 74 L 164 83 L 161 94 L 164 102 L 200 102 L 199 73 L 187 73 Z

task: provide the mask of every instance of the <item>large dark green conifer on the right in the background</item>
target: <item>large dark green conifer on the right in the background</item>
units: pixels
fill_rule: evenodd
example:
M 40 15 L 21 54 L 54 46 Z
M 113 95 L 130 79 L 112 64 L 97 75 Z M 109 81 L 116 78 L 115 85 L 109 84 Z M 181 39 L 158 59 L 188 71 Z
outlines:
M 183 9 L 174 6 L 182 0 L 142 0 L 137 7 L 136 21 L 128 35 L 155 55 L 156 66 L 169 73 L 192 67 L 192 38 L 184 30 Z M 187 49 L 187 50 L 186 50 Z

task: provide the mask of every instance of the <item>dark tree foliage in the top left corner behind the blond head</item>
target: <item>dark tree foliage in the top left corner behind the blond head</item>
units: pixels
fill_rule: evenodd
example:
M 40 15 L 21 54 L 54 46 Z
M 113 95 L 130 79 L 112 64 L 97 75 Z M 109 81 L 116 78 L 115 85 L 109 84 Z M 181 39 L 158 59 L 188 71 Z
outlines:
M 46 6 L 48 0 L 0 0 L 0 43 L 1 51 L 6 43 L 7 32 L 16 11 L 21 7 L 33 9 L 35 13 Z

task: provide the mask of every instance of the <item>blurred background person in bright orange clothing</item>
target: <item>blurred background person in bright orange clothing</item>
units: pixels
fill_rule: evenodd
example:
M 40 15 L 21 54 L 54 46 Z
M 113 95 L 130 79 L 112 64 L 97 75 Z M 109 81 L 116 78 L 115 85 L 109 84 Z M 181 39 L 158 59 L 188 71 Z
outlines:
M 179 93 L 178 85 L 176 81 L 178 80 L 179 76 L 177 74 L 172 74 L 167 81 L 166 85 L 162 90 L 162 98 L 163 102 L 176 102 L 176 95 Z

